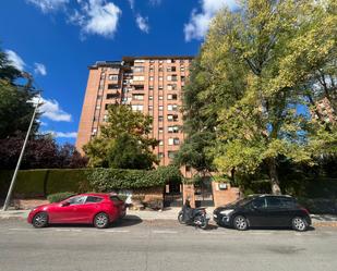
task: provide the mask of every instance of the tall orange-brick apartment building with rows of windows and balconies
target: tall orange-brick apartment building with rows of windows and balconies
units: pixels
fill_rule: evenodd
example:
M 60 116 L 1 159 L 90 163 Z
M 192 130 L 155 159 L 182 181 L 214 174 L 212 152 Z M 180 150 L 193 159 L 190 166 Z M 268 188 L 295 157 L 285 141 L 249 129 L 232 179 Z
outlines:
M 159 140 L 154 152 L 160 164 L 169 164 L 184 137 L 180 109 L 192 59 L 124 57 L 91 65 L 76 148 L 82 151 L 83 145 L 99 134 L 109 104 L 130 104 L 132 110 L 153 116 L 152 136 Z

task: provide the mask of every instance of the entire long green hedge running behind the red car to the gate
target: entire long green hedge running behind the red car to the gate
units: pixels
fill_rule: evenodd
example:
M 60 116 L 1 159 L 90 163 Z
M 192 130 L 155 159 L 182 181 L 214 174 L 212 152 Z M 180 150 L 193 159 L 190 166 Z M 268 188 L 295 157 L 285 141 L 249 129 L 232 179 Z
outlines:
M 0 171 L 0 197 L 5 197 L 12 171 Z M 153 171 L 117 169 L 52 169 L 24 170 L 17 174 L 16 197 L 46 197 L 62 192 L 111 192 L 163 186 L 168 182 L 181 182 L 181 173 L 174 167 L 159 167 Z

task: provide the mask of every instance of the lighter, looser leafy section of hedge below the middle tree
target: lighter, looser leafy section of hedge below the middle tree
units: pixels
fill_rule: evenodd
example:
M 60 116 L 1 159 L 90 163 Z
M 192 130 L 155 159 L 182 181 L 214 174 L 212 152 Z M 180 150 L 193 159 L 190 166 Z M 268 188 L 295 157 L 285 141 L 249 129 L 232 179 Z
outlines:
M 169 182 L 180 182 L 181 173 L 176 167 L 159 167 L 153 171 L 94 169 L 88 171 L 87 178 L 97 192 L 113 189 L 135 189 L 163 186 Z

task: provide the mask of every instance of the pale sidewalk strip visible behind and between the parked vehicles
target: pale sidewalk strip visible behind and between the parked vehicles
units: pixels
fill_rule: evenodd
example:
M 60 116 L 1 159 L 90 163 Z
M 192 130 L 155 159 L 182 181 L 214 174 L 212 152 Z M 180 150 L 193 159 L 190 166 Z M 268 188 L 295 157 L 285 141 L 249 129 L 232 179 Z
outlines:
M 206 212 L 212 215 L 214 207 L 206 208 Z M 177 220 L 180 208 L 168 208 L 164 211 L 133 211 L 128 210 L 124 219 L 141 219 L 141 220 Z M 1 219 L 21 219 L 25 220 L 28 217 L 29 210 L 10 210 L 0 211 Z M 333 214 L 311 214 L 313 226 L 336 226 L 337 215 Z M 1 222 L 0 222 L 1 223 Z

